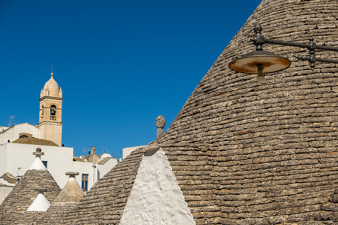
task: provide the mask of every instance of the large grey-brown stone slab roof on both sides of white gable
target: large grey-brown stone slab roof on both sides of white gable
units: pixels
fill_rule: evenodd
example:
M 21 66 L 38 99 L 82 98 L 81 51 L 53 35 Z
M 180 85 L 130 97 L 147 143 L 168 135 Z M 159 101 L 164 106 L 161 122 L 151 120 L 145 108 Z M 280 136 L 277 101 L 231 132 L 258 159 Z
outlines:
M 307 43 L 313 34 L 338 46 L 337 15 L 336 0 L 263 0 L 159 141 L 197 225 L 338 223 L 338 67 L 311 71 L 293 58 L 304 49 L 264 45 L 291 66 L 261 84 L 228 68 L 255 49 L 257 22 L 270 39 Z M 118 224 L 143 153 L 100 179 L 67 222 Z

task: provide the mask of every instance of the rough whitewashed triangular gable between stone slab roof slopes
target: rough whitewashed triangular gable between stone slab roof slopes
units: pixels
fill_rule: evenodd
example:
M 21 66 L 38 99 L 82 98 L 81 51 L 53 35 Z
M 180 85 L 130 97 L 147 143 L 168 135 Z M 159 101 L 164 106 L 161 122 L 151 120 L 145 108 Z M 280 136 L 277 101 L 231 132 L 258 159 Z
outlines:
M 142 156 L 120 225 L 195 225 L 162 149 Z

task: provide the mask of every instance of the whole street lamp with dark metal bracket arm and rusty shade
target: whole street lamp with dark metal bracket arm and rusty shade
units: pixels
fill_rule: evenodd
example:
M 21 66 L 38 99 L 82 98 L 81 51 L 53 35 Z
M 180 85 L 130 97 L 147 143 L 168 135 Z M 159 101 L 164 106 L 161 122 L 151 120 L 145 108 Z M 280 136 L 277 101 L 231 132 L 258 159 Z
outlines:
M 316 45 L 313 42 L 313 37 L 310 35 L 309 43 L 296 43 L 296 42 L 286 42 L 286 41 L 278 41 L 278 40 L 270 40 L 264 38 L 261 34 L 262 26 L 257 23 L 254 27 L 255 36 L 250 38 L 250 41 L 256 46 L 256 51 L 249 52 L 242 57 L 236 58 L 229 63 L 229 68 L 233 71 L 240 73 L 248 73 L 248 74 L 257 74 L 257 81 L 259 83 L 265 80 L 264 73 L 272 73 L 287 69 L 290 67 L 291 62 L 289 59 L 284 58 L 279 55 L 275 55 L 268 51 L 263 51 L 263 44 L 275 44 L 275 45 L 283 45 L 283 46 L 294 46 L 300 48 L 309 49 L 310 56 L 306 55 L 297 55 L 295 56 L 297 59 L 302 61 L 309 61 L 311 70 L 315 68 L 315 62 L 328 62 L 328 63 L 336 63 L 338 64 L 338 60 L 333 59 L 323 59 L 317 58 L 314 56 L 315 50 L 328 50 L 328 51 L 337 51 L 338 48 L 331 46 L 323 46 Z M 264 72 L 264 73 L 263 73 Z

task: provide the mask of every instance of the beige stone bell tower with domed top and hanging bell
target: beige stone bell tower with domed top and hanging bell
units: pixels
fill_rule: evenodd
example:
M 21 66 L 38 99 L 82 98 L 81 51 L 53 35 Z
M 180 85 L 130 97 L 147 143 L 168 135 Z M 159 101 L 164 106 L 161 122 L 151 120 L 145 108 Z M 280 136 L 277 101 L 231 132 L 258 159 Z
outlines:
M 61 146 L 62 143 L 62 90 L 50 74 L 40 92 L 39 138 Z

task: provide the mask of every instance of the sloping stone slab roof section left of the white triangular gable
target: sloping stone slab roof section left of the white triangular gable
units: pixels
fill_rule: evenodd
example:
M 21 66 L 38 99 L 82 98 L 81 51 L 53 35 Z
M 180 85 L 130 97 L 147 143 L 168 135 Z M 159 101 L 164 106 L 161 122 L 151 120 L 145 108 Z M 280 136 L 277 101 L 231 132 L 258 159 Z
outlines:
M 64 224 L 119 224 L 147 148 L 135 150 L 96 182 L 72 208 Z

